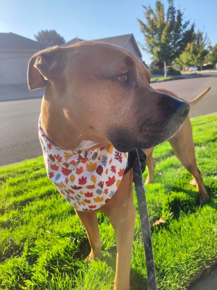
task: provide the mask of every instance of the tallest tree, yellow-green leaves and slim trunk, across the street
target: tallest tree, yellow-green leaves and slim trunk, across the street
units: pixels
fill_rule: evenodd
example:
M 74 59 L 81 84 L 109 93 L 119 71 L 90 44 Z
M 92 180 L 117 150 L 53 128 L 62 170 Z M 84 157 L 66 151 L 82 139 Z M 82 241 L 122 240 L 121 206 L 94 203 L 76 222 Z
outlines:
M 153 60 L 164 63 L 164 77 L 167 75 L 167 64 L 178 57 L 194 37 L 194 24 L 190 26 L 190 21 L 183 22 L 184 13 L 175 9 L 173 0 L 168 0 L 168 3 L 166 17 L 163 3 L 156 1 L 155 12 L 150 5 L 148 8 L 143 6 L 147 24 L 137 19 L 146 40 L 145 50 L 152 54 Z

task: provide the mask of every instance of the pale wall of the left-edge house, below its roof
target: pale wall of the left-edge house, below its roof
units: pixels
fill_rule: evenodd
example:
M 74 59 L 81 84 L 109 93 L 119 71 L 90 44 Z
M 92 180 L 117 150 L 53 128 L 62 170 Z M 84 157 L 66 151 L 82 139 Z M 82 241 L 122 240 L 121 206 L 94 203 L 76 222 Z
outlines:
M 27 67 L 31 52 L 0 51 L 0 85 L 27 83 Z

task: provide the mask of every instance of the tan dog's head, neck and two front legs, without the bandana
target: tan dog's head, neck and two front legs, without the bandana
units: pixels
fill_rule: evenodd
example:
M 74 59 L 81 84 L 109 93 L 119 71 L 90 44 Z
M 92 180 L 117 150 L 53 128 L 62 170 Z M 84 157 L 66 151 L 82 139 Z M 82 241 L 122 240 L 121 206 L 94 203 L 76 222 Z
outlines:
M 29 62 L 30 90 L 46 86 L 41 126 L 52 144 L 73 150 L 113 144 L 122 152 L 150 148 L 174 135 L 189 113 L 186 102 L 154 90 L 148 69 L 126 50 L 96 41 L 48 48 Z M 134 236 L 132 169 L 100 208 L 117 244 L 115 290 L 129 289 Z M 76 211 L 91 246 L 89 261 L 102 258 L 96 211 Z

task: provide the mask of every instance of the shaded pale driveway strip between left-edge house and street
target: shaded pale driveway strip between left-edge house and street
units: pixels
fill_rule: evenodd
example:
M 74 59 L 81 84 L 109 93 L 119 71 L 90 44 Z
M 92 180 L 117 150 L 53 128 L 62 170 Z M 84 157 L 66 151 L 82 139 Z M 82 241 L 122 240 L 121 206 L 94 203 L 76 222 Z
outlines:
M 0 102 L 41 98 L 44 89 L 30 91 L 27 84 L 0 85 Z

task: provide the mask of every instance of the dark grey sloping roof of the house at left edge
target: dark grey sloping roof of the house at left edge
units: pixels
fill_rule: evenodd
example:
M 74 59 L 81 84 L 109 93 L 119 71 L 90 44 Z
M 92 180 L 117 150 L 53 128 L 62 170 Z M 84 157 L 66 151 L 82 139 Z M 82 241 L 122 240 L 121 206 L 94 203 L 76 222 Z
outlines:
M 46 46 L 40 42 L 9 32 L 0 33 L 0 48 L 41 50 L 46 48 Z

